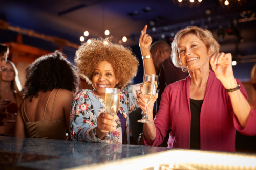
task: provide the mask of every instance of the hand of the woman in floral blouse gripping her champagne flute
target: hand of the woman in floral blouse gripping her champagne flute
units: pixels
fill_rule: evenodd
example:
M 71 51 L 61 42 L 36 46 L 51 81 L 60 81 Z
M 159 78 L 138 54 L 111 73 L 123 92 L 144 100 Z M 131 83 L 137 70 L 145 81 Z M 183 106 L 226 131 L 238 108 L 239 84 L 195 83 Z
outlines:
M 108 133 L 110 130 L 112 130 L 112 132 L 115 131 L 117 126 L 115 122 L 116 119 L 117 116 L 114 117 L 110 114 L 101 113 L 97 117 L 97 125 L 100 132 Z

